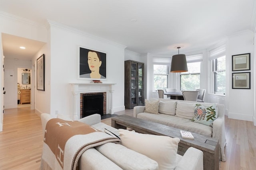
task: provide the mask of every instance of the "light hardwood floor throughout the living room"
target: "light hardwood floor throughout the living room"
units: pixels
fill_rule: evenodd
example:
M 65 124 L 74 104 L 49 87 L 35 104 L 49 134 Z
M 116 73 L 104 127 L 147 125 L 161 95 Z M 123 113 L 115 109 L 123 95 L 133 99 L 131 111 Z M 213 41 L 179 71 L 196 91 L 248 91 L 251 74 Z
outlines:
M 116 112 L 132 116 L 133 110 Z M 30 107 L 6 109 L 0 132 L 0 170 L 38 170 L 43 133 L 39 113 Z M 102 120 L 111 125 L 111 118 Z M 255 170 L 256 127 L 252 122 L 228 119 L 226 127 L 226 162 L 220 170 Z

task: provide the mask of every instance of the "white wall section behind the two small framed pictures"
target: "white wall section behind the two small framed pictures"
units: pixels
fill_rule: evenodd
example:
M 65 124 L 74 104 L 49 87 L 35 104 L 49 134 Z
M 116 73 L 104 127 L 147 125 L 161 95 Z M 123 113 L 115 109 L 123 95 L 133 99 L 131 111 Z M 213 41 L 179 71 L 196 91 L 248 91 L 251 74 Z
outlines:
M 251 89 L 232 89 L 232 55 L 251 53 L 250 68 L 251 70 L 236 72 L 251 72 Z M 254 45 L 252 31 L 243 31 L 236 35 L 228 37 L 228 55 L 226 62 L 230 64 L 230 68 L 226 76 L 229 78 L 229 97 L 228 97 L 228 117 L 232 119 L 240 119 L 253 121 L 254 100 Z

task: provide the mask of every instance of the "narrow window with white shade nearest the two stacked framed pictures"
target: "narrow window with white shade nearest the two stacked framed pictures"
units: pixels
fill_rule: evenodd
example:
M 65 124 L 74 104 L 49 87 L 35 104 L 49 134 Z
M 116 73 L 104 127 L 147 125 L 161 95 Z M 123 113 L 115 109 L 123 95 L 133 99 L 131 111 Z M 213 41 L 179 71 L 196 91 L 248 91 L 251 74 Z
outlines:
M 226 93 L 226 45 L 221 45 L 209 51 L 212 63 L 212 92 Z

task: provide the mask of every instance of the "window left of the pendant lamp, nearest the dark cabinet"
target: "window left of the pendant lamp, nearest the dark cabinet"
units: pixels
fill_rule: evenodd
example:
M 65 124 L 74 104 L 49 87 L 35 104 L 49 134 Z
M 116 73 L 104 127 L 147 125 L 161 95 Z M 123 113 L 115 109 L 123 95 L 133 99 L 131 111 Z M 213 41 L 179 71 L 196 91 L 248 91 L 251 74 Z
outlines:
M 154 91 L 168 88 L 169 65 L 154 64 Z

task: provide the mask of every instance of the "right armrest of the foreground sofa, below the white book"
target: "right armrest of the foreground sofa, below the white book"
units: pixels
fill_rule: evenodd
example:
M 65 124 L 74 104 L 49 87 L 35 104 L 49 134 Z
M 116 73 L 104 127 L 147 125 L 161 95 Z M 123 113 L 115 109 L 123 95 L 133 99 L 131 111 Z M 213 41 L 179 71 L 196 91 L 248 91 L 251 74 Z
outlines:
M 175 170 L 203 170 L 203 152 L 199 149 L 190 147 L 182 156 Z

